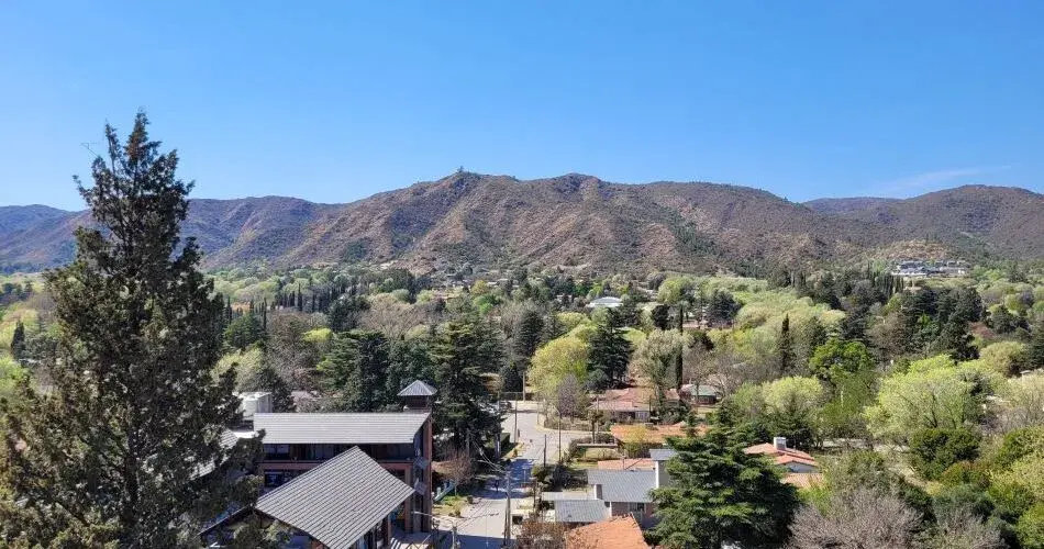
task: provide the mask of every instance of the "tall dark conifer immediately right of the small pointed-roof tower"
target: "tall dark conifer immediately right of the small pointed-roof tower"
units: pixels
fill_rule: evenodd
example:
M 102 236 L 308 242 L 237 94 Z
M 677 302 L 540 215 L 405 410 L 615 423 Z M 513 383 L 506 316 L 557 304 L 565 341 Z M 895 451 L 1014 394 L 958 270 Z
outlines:
M 476 321 L 449 322 L 432 348 L 438 406 L 435 426 L 449 435 L 457 449 L 479 446 L 500 432 L 500 415 L 493 412 L 493 395 L 482 379 L 481 328 Z

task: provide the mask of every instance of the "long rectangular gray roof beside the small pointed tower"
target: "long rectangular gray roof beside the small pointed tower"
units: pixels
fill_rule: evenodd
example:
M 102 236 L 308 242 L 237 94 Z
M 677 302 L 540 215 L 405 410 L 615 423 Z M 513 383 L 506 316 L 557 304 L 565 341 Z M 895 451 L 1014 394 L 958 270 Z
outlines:
M 254 430 L 265 444 L 412 444 L 427 414 L 254 414 Z

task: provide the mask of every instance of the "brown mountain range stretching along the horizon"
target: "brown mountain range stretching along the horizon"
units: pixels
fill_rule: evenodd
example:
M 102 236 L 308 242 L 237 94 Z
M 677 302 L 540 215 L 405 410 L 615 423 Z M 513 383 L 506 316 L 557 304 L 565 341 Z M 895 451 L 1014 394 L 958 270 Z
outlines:
M 68 261 L 87 212 L 0 208 L 0 269 Z M 968 186 L 912 199 L 799 204 L 714 183 L 621 184 L 570 173 L 520 181 L 455 173 L 348 204 L 293 198 L 193 200 L 185 234 L 206 266 L 263 261 L 589 265 L 715 270 L 909 256 L 1044 258 L 1044 195 Z

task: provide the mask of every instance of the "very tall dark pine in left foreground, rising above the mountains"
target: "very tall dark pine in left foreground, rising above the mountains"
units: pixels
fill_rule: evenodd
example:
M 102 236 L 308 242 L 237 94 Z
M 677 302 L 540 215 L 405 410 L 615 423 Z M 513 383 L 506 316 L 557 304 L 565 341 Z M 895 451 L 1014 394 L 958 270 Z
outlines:
M 191 518 L 256 496 L 255 477 L 229 474 L 256 442 L 220 444 L 242 414 L 234 371 L 211 373 L 221 299 L 178 236 L 192 186 L 146 124 L 138 113 L 125 145 L 107 126 L 95 184 L 77 180 L 103 232 L 77 229 L 73 262 L 45 276 L 59 340 L 48 392 L 23 385 L 0 406 L 2 545 L 175 547 L 198 531 Z

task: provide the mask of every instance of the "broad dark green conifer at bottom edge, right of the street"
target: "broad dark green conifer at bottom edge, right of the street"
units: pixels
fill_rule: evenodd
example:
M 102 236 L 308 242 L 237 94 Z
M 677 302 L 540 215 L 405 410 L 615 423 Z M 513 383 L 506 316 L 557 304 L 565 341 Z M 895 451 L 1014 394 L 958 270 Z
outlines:
M 718 549 L 786 539 L 800 503 L 797 490 L 770 461 L 746 453 L 748 442 L 718 427 L 668 439 L 678 455 L 667 462 L 671 482 L 653 491 L 659 524 L 652 534 L 659 544 Z

